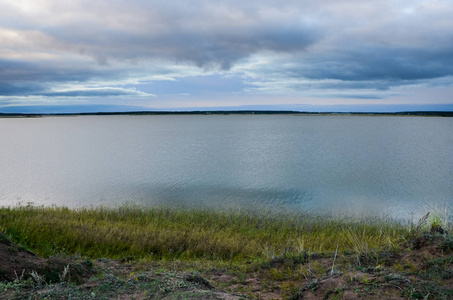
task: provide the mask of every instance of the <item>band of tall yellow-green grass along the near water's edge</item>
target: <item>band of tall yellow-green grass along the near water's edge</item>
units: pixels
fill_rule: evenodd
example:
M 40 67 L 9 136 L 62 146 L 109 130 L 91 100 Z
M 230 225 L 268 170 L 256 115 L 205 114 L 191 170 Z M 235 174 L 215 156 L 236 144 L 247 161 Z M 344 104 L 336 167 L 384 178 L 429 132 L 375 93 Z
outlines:
M 0 230 L 42 256 L 250 260 L 389 249 L 413 234 L 391 220 L 123 206 L 0 208 Z M 365 253 L 359 253 L 365 252 Z

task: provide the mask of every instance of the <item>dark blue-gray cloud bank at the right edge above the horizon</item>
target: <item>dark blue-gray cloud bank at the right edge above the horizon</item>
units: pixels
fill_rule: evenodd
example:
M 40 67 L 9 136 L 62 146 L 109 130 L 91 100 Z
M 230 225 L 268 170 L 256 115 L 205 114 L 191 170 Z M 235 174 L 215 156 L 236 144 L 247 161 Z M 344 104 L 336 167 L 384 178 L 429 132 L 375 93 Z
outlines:
M 453 44 L 447 49 L 407 49 L 358 45 L 347 51 L 318 55 L 293 76 L 310 79 L 419 80 L 453 74 Z

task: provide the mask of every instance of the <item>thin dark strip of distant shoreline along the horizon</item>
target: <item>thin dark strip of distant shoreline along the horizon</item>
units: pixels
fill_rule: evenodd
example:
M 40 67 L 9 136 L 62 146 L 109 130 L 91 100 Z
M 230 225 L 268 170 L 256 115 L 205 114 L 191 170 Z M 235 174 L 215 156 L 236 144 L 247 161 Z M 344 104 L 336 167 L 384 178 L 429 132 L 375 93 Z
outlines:
M 92 113 L 0 113 L 0 118 L 39 118 L 64 116 L 106 115 L 295 115 L 295 116 L 426 116 L 453 117 L 453 111 L 401 111 L 401 112 L 301 112 L 287 110 L 220 110 L 220 111 L 129 111 Z

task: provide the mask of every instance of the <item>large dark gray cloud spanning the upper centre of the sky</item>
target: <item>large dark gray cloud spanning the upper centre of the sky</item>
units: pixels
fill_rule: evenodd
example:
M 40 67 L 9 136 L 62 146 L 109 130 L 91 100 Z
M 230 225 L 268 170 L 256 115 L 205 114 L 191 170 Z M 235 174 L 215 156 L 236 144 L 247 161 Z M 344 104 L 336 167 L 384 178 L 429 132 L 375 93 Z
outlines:
M 206 20 L 200 23 L 197 18 Z M 297 18 L 285 20 L 284 23 L 274 20 L 245 24 L 225 20 L 223 23 L 215 25 L 212 16 L 195 15 L 187 24 L 172 22 L 162 30 L 154 31 L 155 22 L 144 18 L 142 26 L 150 28 L 151 32 L 123 32 L 100 26 L 94 33 L 85 26 L 70 26 L 47 34 L 52 34 L 61 44 L 68 45 L 65 47 L 68 51 L 91 56 L 101 65 L 158 58 L 223 70 L 260 51 L 303 51 L 322 37 L 320 28 Z

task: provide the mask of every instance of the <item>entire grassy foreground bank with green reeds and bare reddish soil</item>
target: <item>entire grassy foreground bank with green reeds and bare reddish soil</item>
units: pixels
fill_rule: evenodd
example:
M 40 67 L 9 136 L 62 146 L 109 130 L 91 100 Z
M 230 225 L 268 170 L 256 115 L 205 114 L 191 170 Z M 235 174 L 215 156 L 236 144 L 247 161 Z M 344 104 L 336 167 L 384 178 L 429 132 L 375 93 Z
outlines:
M 453 297 L 453 238 L 440 212 L 401 224 L 256 211 L 23 206 L 0 208 L 0 231 L 5 251 L 38 255 L 35 270 L 24 267 L 15 278 L 0 267 L 7 280 L 0 299 L 2 289 L 32 299 Z

